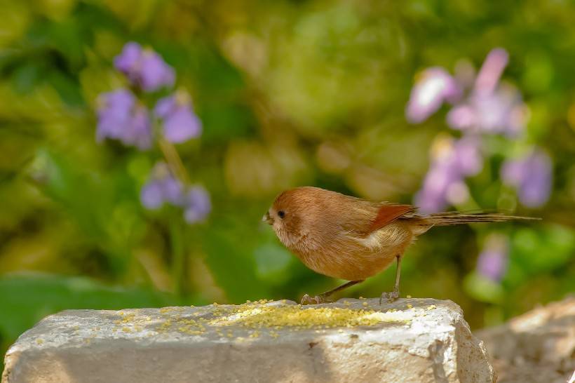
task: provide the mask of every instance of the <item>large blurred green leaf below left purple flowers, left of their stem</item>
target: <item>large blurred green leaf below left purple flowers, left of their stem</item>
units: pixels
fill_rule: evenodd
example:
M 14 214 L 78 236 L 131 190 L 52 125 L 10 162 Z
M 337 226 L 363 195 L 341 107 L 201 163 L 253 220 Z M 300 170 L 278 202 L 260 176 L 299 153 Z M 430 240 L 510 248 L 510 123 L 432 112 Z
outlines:
M 80 163 L 67 156 L 47 149 L 39 150 L 32 177 L 47 196 L 74 218 L 85 240 L 104 251 L 114 271 L 123 271 L 131 249 L 143 235 L 144 225 L 130 177 L 121 171 L 115 176 L 99 177 L 82 170 Z

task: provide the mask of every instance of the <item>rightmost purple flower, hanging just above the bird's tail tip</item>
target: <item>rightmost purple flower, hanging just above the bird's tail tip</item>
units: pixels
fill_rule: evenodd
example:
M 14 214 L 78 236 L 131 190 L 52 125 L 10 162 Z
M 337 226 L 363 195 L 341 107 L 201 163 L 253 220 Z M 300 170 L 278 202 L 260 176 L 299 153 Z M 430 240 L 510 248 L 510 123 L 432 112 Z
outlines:
M 553 164 L 548 154 L 533 149 L 520 159 L 505 161 L 501 167 L 501 180 L 517 189 L 523 205 L 538 208 L 549 199 Z

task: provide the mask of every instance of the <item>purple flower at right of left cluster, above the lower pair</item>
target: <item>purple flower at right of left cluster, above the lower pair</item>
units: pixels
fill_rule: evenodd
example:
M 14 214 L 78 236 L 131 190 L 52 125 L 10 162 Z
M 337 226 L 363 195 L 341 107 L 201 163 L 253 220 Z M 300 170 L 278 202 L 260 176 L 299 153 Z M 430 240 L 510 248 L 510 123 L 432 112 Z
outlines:
M 185 142 L 201 134 L 201 121 L 191 109 L 187 93 L 179 91 L 158 100 L 154 113 L 163 120 L 163 135 L 172 143 Z

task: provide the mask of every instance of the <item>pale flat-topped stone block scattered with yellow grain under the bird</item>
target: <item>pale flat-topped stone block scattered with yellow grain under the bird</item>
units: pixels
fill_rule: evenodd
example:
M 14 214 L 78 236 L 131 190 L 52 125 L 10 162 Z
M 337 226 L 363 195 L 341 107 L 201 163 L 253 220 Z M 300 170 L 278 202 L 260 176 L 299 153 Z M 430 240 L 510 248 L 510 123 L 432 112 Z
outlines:
M 5 362 L 3 383 L 494 382 L 459 306 L 431 299 L 62 311 Z

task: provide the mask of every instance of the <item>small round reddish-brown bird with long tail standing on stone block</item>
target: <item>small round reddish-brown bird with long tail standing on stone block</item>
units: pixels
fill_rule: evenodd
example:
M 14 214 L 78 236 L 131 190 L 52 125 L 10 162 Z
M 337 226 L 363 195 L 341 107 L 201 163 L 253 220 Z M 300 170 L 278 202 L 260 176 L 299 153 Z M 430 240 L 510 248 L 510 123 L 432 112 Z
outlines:
M 399 297 L 403 253 L 431 227 L 532 219 L 499 213 L 421 215 L 416 210 L 411 205 L 371 202 L 318 187 L 298 187 L 278 195 L 263 220 L 307 267 L 349 281 L 313 298 L 306 294 L 302 304 L 325 302 L 330 295 L 363 282 L 396 260 L 393 291 L 381 294 L 381 304 L 384 297 L 390 301 Z

